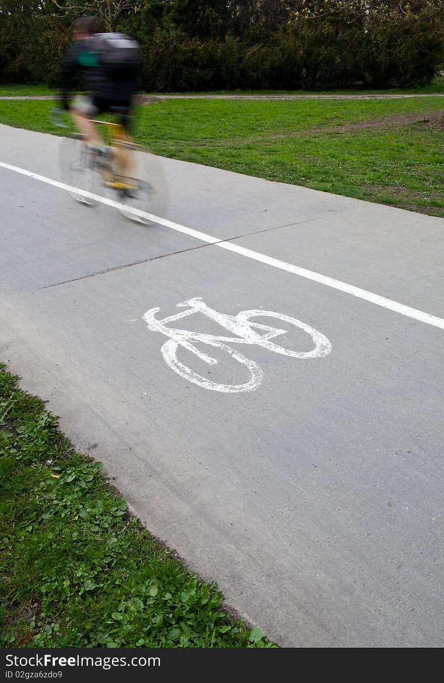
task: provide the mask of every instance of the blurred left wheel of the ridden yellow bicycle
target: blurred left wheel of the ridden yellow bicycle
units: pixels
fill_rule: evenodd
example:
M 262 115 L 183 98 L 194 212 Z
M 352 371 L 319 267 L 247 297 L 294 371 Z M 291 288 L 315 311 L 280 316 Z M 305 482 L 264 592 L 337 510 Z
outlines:
M 86 196 L 85 192 L 98 194 L 100 179 L 95 168 L 94 154 L 87 148 L 81 135 L 73 134 L 62 138 L 59 167 L 61 182 L 69 186 L 70 197 L 81 204 L 95 206 L 96 200 Z

